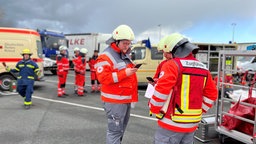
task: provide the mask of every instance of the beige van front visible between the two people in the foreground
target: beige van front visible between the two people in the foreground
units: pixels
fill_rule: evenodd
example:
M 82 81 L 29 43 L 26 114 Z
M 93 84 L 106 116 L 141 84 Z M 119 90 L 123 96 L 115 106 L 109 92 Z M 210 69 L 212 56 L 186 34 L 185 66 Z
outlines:
M 139 85 L 147 85 L 146 77 L 153 77 L 157 66 L 164 60 L 163 53 L 158 52 L 156 45 L 148 48 L 143 44 L 132 46 L 131 58 L 135 64 L 142 63 L 142 66 L 136 72 Z

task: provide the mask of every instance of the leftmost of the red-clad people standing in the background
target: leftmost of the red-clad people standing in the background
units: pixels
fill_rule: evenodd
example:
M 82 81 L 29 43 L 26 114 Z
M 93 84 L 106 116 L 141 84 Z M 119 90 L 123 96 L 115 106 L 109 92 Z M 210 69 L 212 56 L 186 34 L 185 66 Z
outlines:
M 68 96 L 65 92 L 65 86 L 66 86 L 66 80 L 69 70 L 69 61 L 67 59 L 67 47 L 66 46 L 60 46 L 59 47 L 60 54 L 56 57 L 56 63 L 57 63 L 57 75 L 59 79 L 58 83 L 58 97 L 64 98 L 65 96 Z

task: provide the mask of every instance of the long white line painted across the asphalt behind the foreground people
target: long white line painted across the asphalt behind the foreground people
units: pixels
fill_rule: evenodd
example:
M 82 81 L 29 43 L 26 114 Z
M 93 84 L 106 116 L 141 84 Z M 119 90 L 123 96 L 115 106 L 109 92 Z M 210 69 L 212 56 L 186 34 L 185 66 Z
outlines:
M 104 111 L 103 108 L 94 107 L 94 106 L 82 105 L 82 104 L 71 103 L 71 102 L 65 102 L 65 101 L 60 101 L 60 100 L 53 100 L 53 99 L 48 99 L 48 98 L 42 98 L 42 97 L 39 97 L 39 96 L 33 96 L 33 98 L 40 99 L 40 100 L 44 100 L 44 101 L 50 101 L 50 102 L 55 102 L 55 103 L 61 103 L 61 104 L 67 104 L 67 105 L 72 105 L 72 106 L 77 106 L 77 107 L 88 108 L 88 109 L 93 109 L 93 110 Z M 136 117 L 136 118 L 146 119 L 146 120 L 157 121 L 156 118 L 145 117 L 145 116 L 137 115 L 137 114 L 131 114 L 131 116 L 132 116 L 132 117 Z

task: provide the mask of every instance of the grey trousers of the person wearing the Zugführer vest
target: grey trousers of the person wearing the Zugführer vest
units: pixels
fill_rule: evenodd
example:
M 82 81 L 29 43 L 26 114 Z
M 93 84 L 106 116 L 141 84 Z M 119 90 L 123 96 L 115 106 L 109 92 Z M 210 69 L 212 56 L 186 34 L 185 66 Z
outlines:
M 179 133 L 158 126 L 154 144 L 193 144 L 194 133 Z

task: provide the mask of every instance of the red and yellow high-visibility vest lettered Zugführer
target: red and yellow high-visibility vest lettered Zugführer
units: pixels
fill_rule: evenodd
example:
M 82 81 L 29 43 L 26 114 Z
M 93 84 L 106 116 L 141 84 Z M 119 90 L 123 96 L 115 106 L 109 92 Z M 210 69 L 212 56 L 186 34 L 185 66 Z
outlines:
M 208 70 L 196 59 L 175 58 L 174 60 L 179 66 L 180 74 L 166 115 L 174 122 L 199 122 Z

